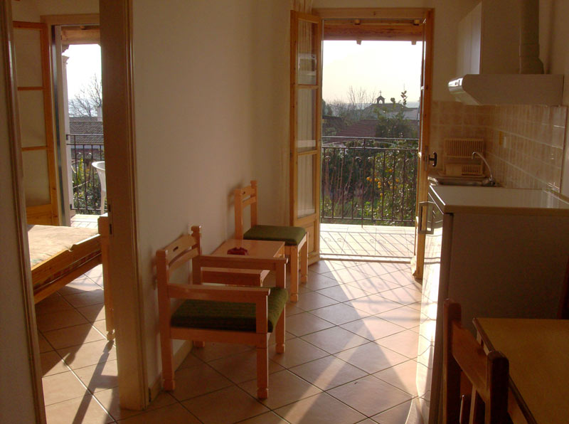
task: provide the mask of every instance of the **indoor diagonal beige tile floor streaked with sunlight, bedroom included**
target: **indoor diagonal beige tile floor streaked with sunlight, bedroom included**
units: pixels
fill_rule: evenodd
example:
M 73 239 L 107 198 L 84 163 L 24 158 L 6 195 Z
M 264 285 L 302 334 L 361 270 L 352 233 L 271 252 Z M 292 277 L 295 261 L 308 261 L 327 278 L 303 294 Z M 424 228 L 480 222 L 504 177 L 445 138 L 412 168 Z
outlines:
M 176 371 L 176 390 L 142 412 L 118 406 L 100 275 L 97 267 L 36 307 L 50 424 L 422 423 L 415 389 L 420 292 L 408 265 L 312 265 L 299 302 L 287 305 L 285 354 L 270 350 L 266 401 L 255 398 L 253 348 L 207 344 Z

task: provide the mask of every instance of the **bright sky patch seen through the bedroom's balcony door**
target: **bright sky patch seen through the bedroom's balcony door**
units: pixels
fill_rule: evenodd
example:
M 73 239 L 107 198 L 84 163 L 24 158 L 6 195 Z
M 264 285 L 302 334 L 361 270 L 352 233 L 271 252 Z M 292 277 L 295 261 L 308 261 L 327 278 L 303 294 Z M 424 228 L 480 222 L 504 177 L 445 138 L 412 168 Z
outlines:
M 98 44 L 71 45 L 63 53 L 67 61 L 68 99 L 73 99 L 93 74 L 101 78 L 101 48 Z

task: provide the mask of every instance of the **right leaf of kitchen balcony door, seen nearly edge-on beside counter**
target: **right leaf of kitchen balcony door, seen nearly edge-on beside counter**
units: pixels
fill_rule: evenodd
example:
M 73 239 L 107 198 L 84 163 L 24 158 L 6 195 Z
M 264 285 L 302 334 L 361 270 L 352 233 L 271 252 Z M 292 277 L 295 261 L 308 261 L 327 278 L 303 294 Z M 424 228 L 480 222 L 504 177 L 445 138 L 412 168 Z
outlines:
M 427 201 L 429 182 L 429 144 L 431 129 L 431 102 L 432 102 L 432 38 L 434 16 L 432 9 L 425 10 L 422 21 L 422 68 L 421 68 L 421 99 L 420 99 L 420 134 L 419 134 L 419 161 L 418 161 L 418 186 L 417 186 L 417 209 L 415 219 L 415 255 L 411 261 L 413 276 L 422 279 L 422 267 L 425 262 L 425 233 L 421 233 L 418 223 L 419 214 L 425 213 L 420 207 L 421 202 Z M 423 216 L 426 218 L 426 216 Z M 423 222 L 425 222 L 423 220 Z

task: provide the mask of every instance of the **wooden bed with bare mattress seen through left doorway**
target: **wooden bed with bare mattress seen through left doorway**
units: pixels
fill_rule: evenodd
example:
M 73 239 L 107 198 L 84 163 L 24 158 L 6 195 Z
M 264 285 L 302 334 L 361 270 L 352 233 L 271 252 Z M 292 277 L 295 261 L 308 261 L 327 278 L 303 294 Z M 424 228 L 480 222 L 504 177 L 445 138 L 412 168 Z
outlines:
M 103 284 L 108 284 L 108 218 L 99 218 L 99 229 L 64 226 L 28 226 L 33 300 L 40 302 L 88 270 L 103 264 Z M 107 288 L 107 287 L 105 287 Z M 110 290 L 105 290 L 107 339 L 112 339 Z

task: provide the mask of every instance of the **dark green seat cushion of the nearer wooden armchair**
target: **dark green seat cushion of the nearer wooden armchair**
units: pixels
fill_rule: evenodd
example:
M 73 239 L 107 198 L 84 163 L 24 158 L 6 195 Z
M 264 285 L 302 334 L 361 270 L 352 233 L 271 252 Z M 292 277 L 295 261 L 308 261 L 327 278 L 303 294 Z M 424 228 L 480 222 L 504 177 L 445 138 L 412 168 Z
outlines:
M 288 292 L 272 287 L 268 298 L 267 332 L 277 326 L 285 309 Z M 171 317 L 172 327 L 255 332 L 255 303 L 216 302 L 213 300 L 186 300 Z

